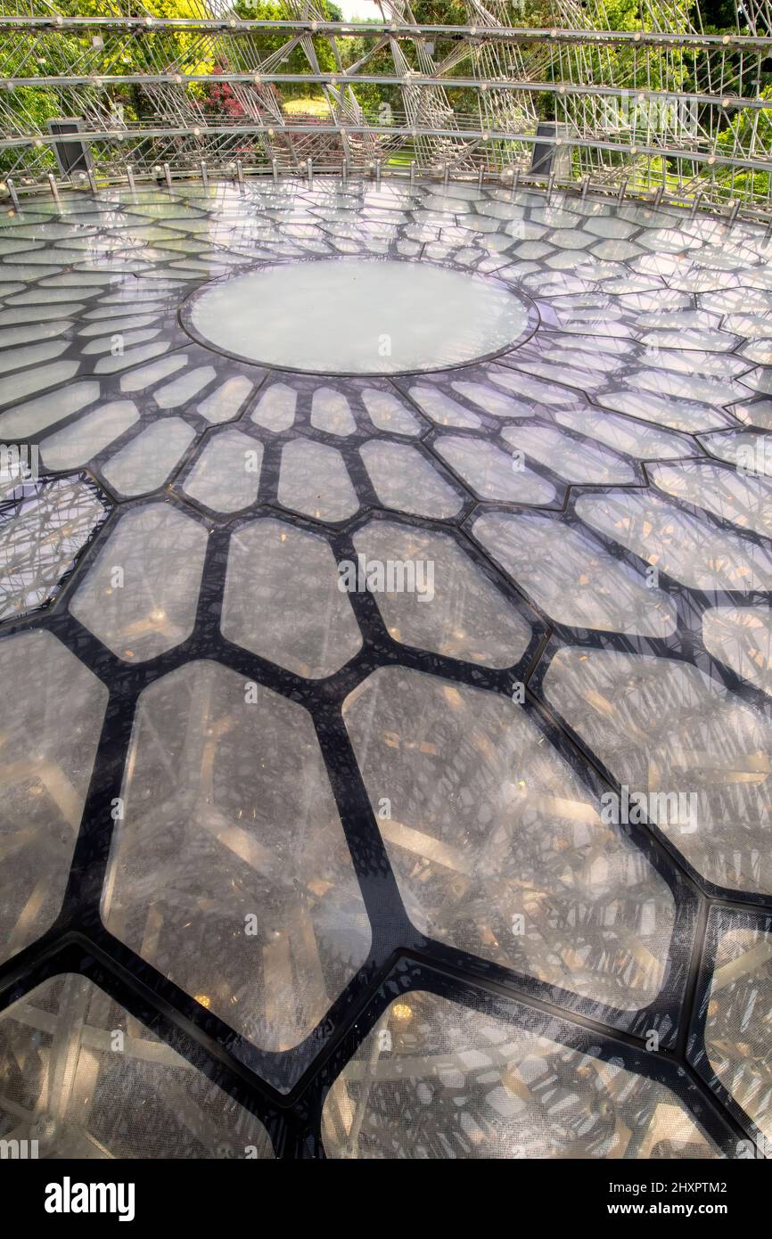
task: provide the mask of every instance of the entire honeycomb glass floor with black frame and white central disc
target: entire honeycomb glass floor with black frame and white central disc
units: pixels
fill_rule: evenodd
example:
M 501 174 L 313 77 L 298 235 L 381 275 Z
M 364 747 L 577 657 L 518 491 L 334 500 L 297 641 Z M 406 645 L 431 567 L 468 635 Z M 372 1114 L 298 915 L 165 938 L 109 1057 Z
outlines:
M 768 1155 L 772 233 L 0 224 L 0 1137 Z

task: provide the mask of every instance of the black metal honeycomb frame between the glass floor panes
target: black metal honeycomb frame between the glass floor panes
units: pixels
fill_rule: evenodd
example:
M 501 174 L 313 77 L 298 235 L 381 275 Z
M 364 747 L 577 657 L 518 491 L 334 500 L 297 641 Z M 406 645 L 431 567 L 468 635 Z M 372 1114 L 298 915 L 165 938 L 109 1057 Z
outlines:
M 304 197 L 305 191 L 301 190 L 300 195 Z M 416 190 L 414 193 L 416 202 L 420 199 L 420 195 L 421 191 Z M 309 197 L 312 199 L 311 192 L 309 192 Z M 193 203 L 197 201 L 197 197 L 193 197 Z M 203 216 L 204 211 L 202 211 Z M 141 224 L 145 222 L 154 223 L 152 219 L 143 219 Z M 501 223 L 503 227 L 503 221 Z M 460 225 L 463 225 L 463 217 L 461 217 Z M 457 224 L 452 227 L 457 227 Z M 230 253 L 242 256 L 238 248 Z M 401 256 L 395 249 L 395 240 L 390 243 L 392 255 Z M 512 261 L 504 254 L 498 256 L 502 260 L 501 268 L 508 266 Z M 24 254 L 10 255 L 11 264 L 14 260 L 24 263 Z M 455 265 L 458 270 L 468 270 L 452 261 L 450 265 Z M 254 260 L 245 259 L 244 264 L 234 264 L 232 274 L 240 274 L 247 268 L 254 268 Z M 76 264 L 68 265 L 67 270 L 73 275 L 77 274 Z M 172 274 L 171 269 L 170 274 Z M 151 281 L 141 282 L 144 291 Z M 653 287 L 662 286 L 654 276 L 652 276 L 651 284 Z M 104 291 L 104 286 L 95 287 L 94 295 Z M 45 299 L 43 289 L 41 289 L 41 294 Z M 201 359 L 206 359 L 207 364 L 214 364 L 213 358 L 222 354 L 214 354 L 204 349 L 201 343 L 191 342 L 178 327 L 177 294 L 173 291 L 169 294 L 164 290 L 162 299 L 167 302 L 167 330 L 171 332 L 172 343 L 171 351 L 164 356 L 186 353 L 193 354 L 198 361 L 198 354 L 201 354 Z M 694 295 L 691 299 L 693 304 L 696 304 Z M 82 297 L 76 295 L 74 300 L 79 301 Z M 95 302 L 89 301 L 89 306 Z M 537 297 L 537 304 L 539 304 L 539 297 Z M 538 325 L 538 332 L 534 327 L 537 341 L 540 336 L 549 337 L 553 331 L 559 330 L 549 322 L 549 302 L 544 301 L 543 307 L 545 312 Z M 126 313 L 131 313 L 130 301 L 126 304 Z M 185 325 L 185 316 L 181 321 Z M 529 332 L 528 338 L 532 336 L 533 332 Z M 579 333 L 574 335 L 572 338 L 576 341 L 577 348 L 585 341 L 585 337 Z M 73 356 L 76 356 L 74 343 L 72 347 Z M 69 351 L 63 354 L 64 358 L 68 356 Z M 138 363 L 136 368 L 140 364 L 147 363 Z M 421 382 L 436 383 L 442 389 L 458 375 L 473 378 L 481 364 L 481 362 L 470 363 L 457 369 L 442 372 L 441 375 L 435 374 L 429 380 L 421 377 Z M 497 357 L 494 364 L 506 366 L 513 373 L 518 367 L 518 353 L 509 352 L 506 357 Z M 747 368 L 750 370 L 756 367 L 748 362 Z M 77 379 L 81 380 L 89 373 L 87 364 L 78 373 Z M 119 392 L 119 374 L 121 373 L 125 370 L 115 375 L 100 375 L 102 399 L 110 399 Z M 470 486 L 437 455 L 435 445 L 440 434 L 451 432 L 455 436 L 465 436 L 472 434 L 471 431 L 456 427 L 447 427 L 446 431 L 440 430 L 411 400 L 408 394 L 409 382 L 399 377 L 368 379 L 367 385 L 399 393 L 403 401 L 413 408 L 418 421 L 425 429 L 418 437 L 377 431 L 369 424 L 361 401 L 359 392 L 364 380 L 333 374 L 330 375 L 330 382 L 344 389 L 358 422 L 356 434 L 343 440 L 311 426 L 310 399 L 311 390 L 316 385 L 314 380 L 310 377 L 297 378 L 287 375 L 286 372 L 280 373 L 285 374 L 286 380 L 299 392 L 296 419 L 291 429 L 278 434 L 269 432 L 249 420 L 250 410 L 279 377 L 279 372 L 269 373 L 265 367 L 228 359 L 224 369 L 221 370 L 218 367 L 218 383 L 222 382 L 223 377 L 233 374 L 249 374 L 255 382 L 255 389 L 249 400 L 242 405 L 235 420 L 223 422 L 221 426 L 209 426 L 204 424 L 203 419 L 187 413 L 185 406 L 173 410 L 188 416 L 188 419 L 195 419 L 198 429 L 193 442 L 176 466 L 172 478 L 159 491 L 141 498 L 123 499 L 105 483 L 102 466 L 109 455 L 113 455 L 115 450 L 129 442 L 141 429 L 155 420 L 152 396 L 147 392 L 143 393 L 138 399 L 138 404 L 141 404 L 140 421 L 115 440 L 109 446 L 109 451 L 98 453 L 88 471 L 81 473 L 81 476 L 95 482 L 100 491 L 109 497 L 113 504 L 112 515 L 95 532 L 92 541 L 79 556 L 74 570 L 62 581 L 61 589 L 56 591 L 56 596 L 52 597 L 48 606 L 31 612 L 24 620 L 2 626 L 0 639 L 30 628 L 52 632 L 68 649 L 77 654 L 86 667 L 108 684 L 110 695 L 61 913 L 56 923 L 38 942 L 0 966 L 0 1009 L 5 1009 L 9 1004 L 29 994 L 50 976 L 63 971 L 81 973 L 107 990 L 129 1012 L 147 1025 L 152 1032 L 196 1064 L 212 1080 L 216 1080 L 248 1110 L 257 1114 L 265 1123 L 278 1156 L 305 1158 L 325 1156 L 320 1130 L 323 1098 L 341 1067 L 394 997 L 410 990 L 425 989 L 461 1004 L 475 1005 L 485 995 L 491 1009 L 504 1018 L 518 1022 L 523 1018 L 525 1010 L 529 1020 L 538 1018 L 543 1021 L 545 1028 L 558 1030 L 560 1036 L 566 1040 L 566 1044 L 582 1047 L 591 1044 L 594 1053 L 600 1053 L 602 1057 L 611 1054 L 621 1057 L 632 1069 L 668 1084 L 699 1116 L 724 1152 L 727 1156 L 734 1156 L 737 1140 L 745 1139 L 746 1134 L 757 1136 L 757 1132 L 753 1124 L 715 1082 L 710 1068 L 706 1067 L 704 1054 L 703 1009 L 704 995 L 710 983 L 710 957 L 715 938 L 714 913 L 721 909 L 724 916 L 731 916 L 739 924 L 746 921 L 763 922 L 770 927 L 772 924 L 772 895 L 760 896 L 711 886 L 686 864 L 656 826 L 620 828 L 644 852 L 653 869 L 665 878 L 677 906 L 670 947 L 672 966 L 662 992 L 654 1002 L 642 1011 L 618 1011 L 605 1007 L 590 999 L 582 999 L 555 986 L 517 975 L 506 968 L 477 957 L 466 955 L 440 942 L 430 940 L 418 933 L 406 917 L 342 720 L 341 705 L 346 695 L 371 672 L 385 665 L 397 664 L 429 672 L 460 684 L 501 694 L 507 699 L 511 698 L 513 681 L 523 681 L 527 685 L 524 709 L 534 724 L 549 737 L 553 747 L 579 774 L 584 786 L 599 797 L 603 789 L 618 790 L 618 783 L 586 750 L 565 721 L 555 716 L 555 711 L 545 704 L 543 696 L 544 672 L 555 649 L 566 643 L 574 643 L 586 648 L 651 653 L 670 659 L 683 659 L 730 688 L 740 699 L 751 703 L 770 719 L 772 717 L 770 699 L 719 663 L 704 648 L 700 621 L 706 607 L 720 602 L 741 600 L 746 603 L 760 601 L 768 603 L 772 597 L 766 593 L 705 593 L 686 590 L 675 580 L 662 574 L 659 587 L 670 597 L 678 612 L 678 631 L 672 638 L 626 637 L 611 632 L 581 631 L 556 624 L 524 596 L 522 589 L 508 580 L 473 536 L 472 522 L 481 512 L 519 510 L 520 506 L 489 503 L 480 499 Z M 468 408 L 470 413 L 473 411 L 481 419 L 488 439 L 493 440 L 503 422 L 485 414 L 460 393 L 449 390 L 457 404 Z M 585 400 L 594 409 L 601 408 L 594 403 L 592 393 L 585 393 L 577 388 L 569 390 L 572 390 L 577 398 Z M 202 393 L 190 401 L 191 406 L 201 398 Z M 748 393 L 748 399 L 751 398 L 752 395 Z M 729 408 L 727 414 L 731 416 Z M 81 410 L 57 422 L 55 429 L 58 431 L 82 415 Z M 626 416 L 631 422 L 636 421 L 628 415 L 620 416 Z M 554 421 L 551 414 L 539 411 L 529 419 L 528 424 L 551 426 Z M 747 429 L 734 419 L 729 425 L 732 424 L 736 429 Z M 646 425 L 651 424 L 646 422 Z M 224 518 L 185 497 L 182 488 L 191 462 L 198 456 L 202 446 L 211 442 L 222 430 L 234 426 L 263 445 L 263 468 L 258 502 L 247 510 Z M 48 432 L 31 436 L 29 441 L 38 441 Z M 279 453 L 284 444 L 299 437 L 332 445 L 342 452 L 361 499 L 361 508 L 351 519 L 337 524 L 325 524 L 289 512 L 279 503 L 276 494 Z M 581 439 L 582 436 L 574 434 L 574 437 Z M 694 447 L 694 452 L 690 455 L 703 460 L 711 458 L 701 446 L 698 435 L 680 434 L 680 437 L 684 444 Z M 420 453 L 431 460 L 437 473 L 460 494 L 463 502 L 457 515 L 450 520 L 429 520 L 384 509 L 358 455 L 358 446 L 366 440 L 413 444 Z M 587 439 L 586 441 L 595 446 L 595 440 Z M 647 487 L 649 478 L 646 461 L 632 457 L 623 458 L 629 460 L 636 470 L 634 486 Z M 551 519 L 561 519 L 581 528 L 582 533 L 603 545 L 618 560 L 638 570 L 642 569 L 642 560 L 611 539 L 594 530 L 587 530 L 587 527 L 575 514 L 577 494 L 605 493 L 611 487 L 569 486 L 538 461 L 529 460 L 529 468 L 551 481 L 556 492 L 556 499 L 553 503 L 538 506 L 535 510 L 548 514 Z M 51 476 L 61 475 L 53 473 Z M 67 607 L 74 589 L 100 553 L 119 517 L 151 502 L 164 502 L 185 512 L 188 518 L 209 529 L 211 536 L 192 634 L 167 653 L 141 664 L 130 665 L 107 649 L 95 636 L 69 615 Z M 677 499 L 669 499 L 669 502 L 684 510 L 696 510 Z M 7 509 L 7 504 L 4 507 Z M 529 504 L 523 510 L 532 512 L 534 506 Z M 530 624 L 532 639 L 525 653 L 515 665 L 504 670 L 492 670 L 425 650 L 411 649 L 389 636 L 375 600 L 368 593 L 351 596 L 351 603 L 363 636 L 363 648 L 341 670 L 327 679 L 304 679 L 234 646 L 226 641 L 219 631 L 228 540 L 230 533 L 242 528 L 247 522 L 269 514 L 280 517 L 299 529 L 323 533 L 338 560 L 356 558 L 352 536 L 368 520 L 388 519 L 403 524 L 421 524 L 426 529 L 451 534 L 485 577 Z M 721 522 L 701 509 L 700 519 L 708 524 L 721 527 Z M 765 544 L 765 539 L 755 534 L 743 532 L 743 538 Z M 162 675 L 198 658 L 216 659 L 248 679 L 264 684 L 290 700 L 302 704 L 311 712 L 353 867 L 372 924 L 371 952 L 356 978 L 346 986 L 316 1028 L 299 1046 L 284 1053 L 269 1053 L 252 1046 L 224 1021 L 200 1006 L 193 997 L 185 994 L 112 935 L 99 917 L 99 901 L 114 825 L 110 805 L 113 798 L 120 794 L 124 758 L 138 696 L 144 688 Z M 709 924 L 713 927 L 710 932 Z M 653 1028 L 660 1035 L 660 1049 L 656 1054 L 647 1052 L 642 1043 L 647 1032 Z

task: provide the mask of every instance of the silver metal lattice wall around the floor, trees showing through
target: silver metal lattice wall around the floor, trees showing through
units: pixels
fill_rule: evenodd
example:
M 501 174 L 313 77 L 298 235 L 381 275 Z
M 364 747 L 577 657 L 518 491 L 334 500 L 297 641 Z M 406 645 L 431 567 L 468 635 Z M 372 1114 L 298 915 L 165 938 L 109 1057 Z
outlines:
M 311 0 L 285 0 L 273 21 L 253 20 L 244 0 L 187 0 L 185 17 L 161 0 L 98 7 L 110 14 L 89 0 L 1 6 L 0 159 L 17 186 L 57 173 L 47 123 L 64 116 L 82 118 L 97 178 L 202 162 L 302 175 L 309 161 L 522 177 L 540 145 L 559 183 L 770 204 L 763 4 L 739 6 L 719 33 L 683 0 L 647 4 L 623 31 L 608 28 L 603 0 L 517 11 L 467 0 L 466 25 L 421 24 L 408 0 L 382 0 L 371 24 L 330 21 Z M 321 115 L 287 109 L 299 89 Z

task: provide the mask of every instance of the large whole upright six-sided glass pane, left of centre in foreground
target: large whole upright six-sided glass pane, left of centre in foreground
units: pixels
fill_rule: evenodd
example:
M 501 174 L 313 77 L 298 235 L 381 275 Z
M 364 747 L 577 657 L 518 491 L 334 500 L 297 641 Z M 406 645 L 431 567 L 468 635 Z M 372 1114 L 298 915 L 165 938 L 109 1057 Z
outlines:
M 214 662 L 140 695 L 108 929 L 263 1049 L 320 1022 L 369 922 L 310 714 Z

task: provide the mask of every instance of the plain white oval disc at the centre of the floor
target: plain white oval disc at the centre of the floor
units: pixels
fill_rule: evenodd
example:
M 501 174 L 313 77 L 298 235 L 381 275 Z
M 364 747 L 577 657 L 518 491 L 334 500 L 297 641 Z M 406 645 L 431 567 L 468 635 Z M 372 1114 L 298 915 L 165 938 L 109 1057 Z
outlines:
M 196 294 L 191 335 L 281 369 L 398 374 L 498 353 L 528 327 L 528 302 L 494 280 L 388 259 L 321 259 L 237 275 Z

